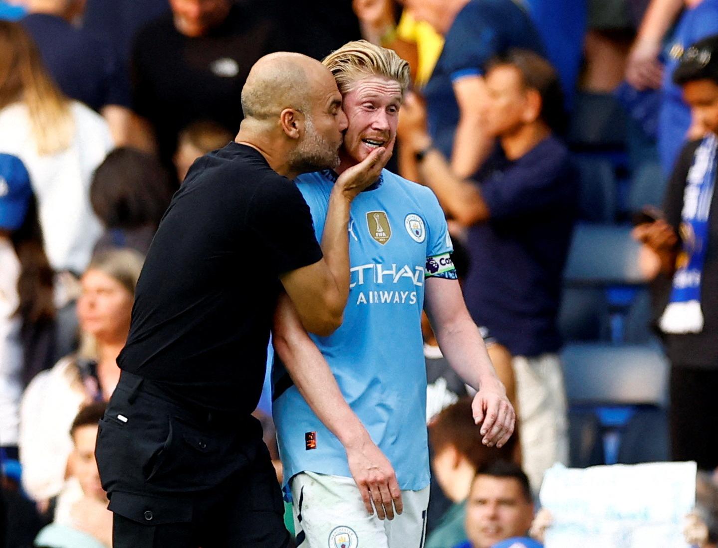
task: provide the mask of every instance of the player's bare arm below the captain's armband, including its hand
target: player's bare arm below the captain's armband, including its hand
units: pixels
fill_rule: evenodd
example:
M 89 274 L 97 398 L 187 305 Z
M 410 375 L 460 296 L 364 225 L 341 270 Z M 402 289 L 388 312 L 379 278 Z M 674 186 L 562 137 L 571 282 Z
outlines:
M 426 278 L 426 312 L 449 365 L 477 390 L 472 409 L 476 424 L 482 423 L 483 443 L 502 447 L 516 426 L 516 412 L 469 316 L 459 282 Z

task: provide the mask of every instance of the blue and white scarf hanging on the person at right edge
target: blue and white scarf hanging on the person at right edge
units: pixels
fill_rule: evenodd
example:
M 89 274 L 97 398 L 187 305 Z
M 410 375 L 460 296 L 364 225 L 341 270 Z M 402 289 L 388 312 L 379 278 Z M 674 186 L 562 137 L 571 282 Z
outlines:
M 676 260 L 671 300 L 663 311 L 661 331 L 671 334 L 703 331 L 701 277 L 708 249 L 708 215 L 716 179 L 718 138 L 703 139 L 688 171 L 681 212 L 681 252 Z

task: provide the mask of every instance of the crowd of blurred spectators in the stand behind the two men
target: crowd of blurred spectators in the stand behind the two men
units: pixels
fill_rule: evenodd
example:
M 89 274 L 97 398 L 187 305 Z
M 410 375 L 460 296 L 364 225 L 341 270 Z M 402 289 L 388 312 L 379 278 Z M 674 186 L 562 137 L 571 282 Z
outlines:
M 586 95 L 624 103 L 641 157 L 660 160 L 663 211 L 633 232 L 654 280 L 645 322 L 671 364 L 671 458 L 713 471 L 717 36 L 716 0 L 0 1 L 0 547 L 111 544 L 96 424 L 172 193 L 236 135 L 256 60 L 360 38 L 411 64 L 391 169 L 437 195 L 518 416 L 509 444 L 482 445 L 424 317 L 426 547 L 540 546 L 542 477 L 572 463 L 559 313 L 584 220 L 568 136 Z M 699 477 L 686 534 L 701 548 L 718 540 L 717 490 Z

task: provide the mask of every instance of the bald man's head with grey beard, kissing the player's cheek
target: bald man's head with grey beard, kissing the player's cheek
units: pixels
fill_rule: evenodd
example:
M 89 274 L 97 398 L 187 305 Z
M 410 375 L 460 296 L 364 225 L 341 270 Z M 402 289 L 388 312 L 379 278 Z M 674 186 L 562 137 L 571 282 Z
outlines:
M 334 77 L 322 63 L 299 53 L 265 55 L 249 72 L 241 100 L 243 128 L 283 139 L 296 171 L 338 165 L 346 116 Z

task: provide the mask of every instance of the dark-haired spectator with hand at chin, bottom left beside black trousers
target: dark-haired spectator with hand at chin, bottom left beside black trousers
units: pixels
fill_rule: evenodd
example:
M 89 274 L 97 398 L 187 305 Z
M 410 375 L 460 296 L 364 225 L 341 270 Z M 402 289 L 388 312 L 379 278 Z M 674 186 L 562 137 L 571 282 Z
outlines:
M 112 545 L 112 513 L 95 462 L 98 422 L 107 405 L 80 409 L 70 427 L 73 450 L 67 460 L 67 482 L 57 501 L 55 519 L 39 532 L 34 546 L 106 548 Z

